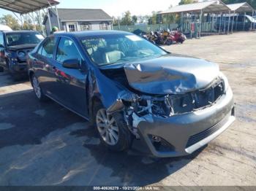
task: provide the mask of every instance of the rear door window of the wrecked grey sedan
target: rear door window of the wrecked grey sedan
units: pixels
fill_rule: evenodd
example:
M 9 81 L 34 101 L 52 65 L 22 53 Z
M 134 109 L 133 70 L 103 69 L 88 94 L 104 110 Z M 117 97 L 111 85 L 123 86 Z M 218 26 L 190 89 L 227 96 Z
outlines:
M 56 38 L 50 37 L 49 39 L 46 40 L 46 42 L 42 45 L 42 47 L 39 47 L 38 53 L 47 58 L 53 58 L 55 44 L 56 44 Z

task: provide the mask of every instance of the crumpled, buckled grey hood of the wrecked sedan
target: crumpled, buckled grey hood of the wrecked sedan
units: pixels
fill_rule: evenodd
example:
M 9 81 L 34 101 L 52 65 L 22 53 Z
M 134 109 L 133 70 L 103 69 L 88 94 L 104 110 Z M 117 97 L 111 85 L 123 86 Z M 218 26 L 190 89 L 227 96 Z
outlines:
M 219 75 L 219 66 L 198 58 L 168 55 L 126 63 L 129 85 L 142 93 L 180 94 L 202 89 Z

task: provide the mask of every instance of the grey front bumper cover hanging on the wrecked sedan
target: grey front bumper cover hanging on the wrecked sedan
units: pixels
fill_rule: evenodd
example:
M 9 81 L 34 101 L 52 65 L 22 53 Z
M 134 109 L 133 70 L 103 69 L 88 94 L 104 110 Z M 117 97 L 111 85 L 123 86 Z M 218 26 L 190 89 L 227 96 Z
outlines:
M 155 157 L 189 155 L 219 136 L 235 119 L 233 93 L 229 88 L 217 103 L 206 109 L 167 119 L 153 116 L 153 122 L 141 121 L 140 143 L 145 144 L 144 151 Z M 156 136 L 161 140 L 158 143 L 152 139 Z

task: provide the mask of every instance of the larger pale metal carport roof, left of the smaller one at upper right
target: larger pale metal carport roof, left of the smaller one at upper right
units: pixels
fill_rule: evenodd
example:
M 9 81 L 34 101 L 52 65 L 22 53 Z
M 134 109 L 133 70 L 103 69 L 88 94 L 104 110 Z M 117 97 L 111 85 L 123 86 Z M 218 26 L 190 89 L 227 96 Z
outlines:
M 183 4 L 167 9 L 161 14 L 178 13 L 178 12 L 229 12 L 230 9 L 222 1 L 205 1 L 195 4 Z

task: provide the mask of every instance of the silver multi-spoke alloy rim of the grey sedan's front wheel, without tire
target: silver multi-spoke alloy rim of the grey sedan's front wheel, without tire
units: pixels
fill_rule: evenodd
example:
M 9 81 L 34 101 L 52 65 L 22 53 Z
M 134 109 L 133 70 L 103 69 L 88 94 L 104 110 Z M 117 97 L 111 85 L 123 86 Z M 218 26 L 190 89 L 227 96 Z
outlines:
M 119 139 L 119 132 L 116 120 L 106 109 L 99 109 L 96 115 L 96 124 L 99 135 L 109 145 L 116 145 Z

